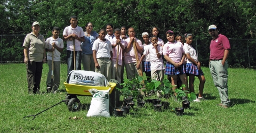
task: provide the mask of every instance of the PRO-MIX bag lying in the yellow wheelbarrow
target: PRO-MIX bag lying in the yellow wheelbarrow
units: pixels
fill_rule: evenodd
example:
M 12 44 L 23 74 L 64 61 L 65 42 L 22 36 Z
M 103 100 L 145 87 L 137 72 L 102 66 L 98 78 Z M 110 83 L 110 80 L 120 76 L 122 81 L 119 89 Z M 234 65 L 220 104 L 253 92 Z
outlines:
M 109 86 L 108 80 L 101 73 L 83 70 L 73 70 L 68 74 L 68 84 L 86 86 Z

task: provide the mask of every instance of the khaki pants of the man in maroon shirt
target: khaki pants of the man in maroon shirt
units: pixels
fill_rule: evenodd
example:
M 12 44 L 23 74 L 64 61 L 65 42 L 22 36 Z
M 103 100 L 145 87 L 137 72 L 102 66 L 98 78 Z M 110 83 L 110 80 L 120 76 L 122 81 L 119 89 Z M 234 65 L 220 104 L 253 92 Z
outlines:
M 212 79 L 214 82 L 215 87 L 219 91 L 220 100 L 222 105 L 229 106 L 229 99 L 228 99 L 228 62 L 225 62 L 223 66 L 221 64 L 222 60 L 212 60 L 210 62 L 210 71 L 212 74 Z

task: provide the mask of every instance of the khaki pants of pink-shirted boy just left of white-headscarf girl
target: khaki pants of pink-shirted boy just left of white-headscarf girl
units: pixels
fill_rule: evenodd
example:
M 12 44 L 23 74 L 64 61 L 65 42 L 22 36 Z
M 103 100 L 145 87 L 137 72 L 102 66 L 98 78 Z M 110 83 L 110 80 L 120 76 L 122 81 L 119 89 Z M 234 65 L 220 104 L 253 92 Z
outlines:
M 125 64 L 127 79 L 132 80 L 135 78 L 135 75 L 139 75 L 136 69 L 136 63 Z M 140 64 L 140 69 L 142 70 L 142 64 Z

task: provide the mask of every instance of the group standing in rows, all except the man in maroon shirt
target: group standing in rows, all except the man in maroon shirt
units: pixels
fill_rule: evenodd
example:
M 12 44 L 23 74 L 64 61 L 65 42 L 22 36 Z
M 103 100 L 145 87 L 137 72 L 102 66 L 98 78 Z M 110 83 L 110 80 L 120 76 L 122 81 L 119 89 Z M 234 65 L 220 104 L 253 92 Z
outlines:
M 142 45 L 141 40 L 135 38 L 135 30 L 132 27 L 127 29 L 129 36 L 126 36 L 126 27 L 113 29 L 112 24 L 107 24 L 106 29 L 100 29 L 97 33 L 93 31 L 91 22 L 86 24 L 86 31 L 83 31 L 81 27 L 77 26 L 76 16 L 70 17 L 70 23 L 70 26 L 63 30 L 63 40 L 59 38 L 60 29 L 54 27 L 52 29 L 53 36 L 47 38 L 46 41 L 39 34 L 39 23 L 33 23 L 33 31 L 26 36 L 23 43 L 29 93 L 35 94 L 39 91 L 42 62 L 46 61 L 46 52 L 48 52 L 47 64 L 49 65 L 46 81 L 47 92 L 54 92 L 58 89 L 60 53 L 63 51 L 63 41 L 67 41 L 68 73 L 74 69 L 81 70 L 82 62 L 84 70 L 99 72 L 107 80 L 117 79 L 117 81 L 123 82 L 125 66 L 127 79 L 135 78 L 138 70 L 142 69 L 146 73 L 147 80 L 150 80 L 149 77 L 151 77 L 162 81 L 166 74 L 171 81 L 173 90 L 177 88 L 177 81 L 180 79 L 181 83 L 186 86 L 183 89 L 188 90 L 189 85 L 191 92 L 194 92 L 194 80 L 197 76 L 200 84 L 199 95 L 195 101 L 199 102 L 200 99 L 204 99 L 205 78 L 196 50 L 191 46 L 193 35 L 186 34 L 186 43 L 183 44 L 182 36 L 174 38 L 174 32 L 169 30 L 165 33 L 168 41 L 164 44 L 163 40 L 159 38 L 159 30 L 154 27 L 151 36 L 148 32 L 142 33 L 144 41 Z M 138 59 L 135 56 L 138 56 Z M 163 57 L 167 61 L 165 66 Z M 37 64 L 38 62 L 40 63 Z M 54 65 L 53 71 L 51 71 L 52 65 Z M 54 86 L 51 85 L 52 74 L 54 74 Z

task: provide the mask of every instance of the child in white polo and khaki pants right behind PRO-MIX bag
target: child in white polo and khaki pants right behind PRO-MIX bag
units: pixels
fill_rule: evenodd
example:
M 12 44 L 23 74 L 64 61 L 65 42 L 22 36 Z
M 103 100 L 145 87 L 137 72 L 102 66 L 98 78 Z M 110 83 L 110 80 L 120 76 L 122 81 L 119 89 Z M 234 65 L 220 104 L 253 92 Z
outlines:
M 113 49 L 110 41 L 105 39 L 106 30 L 101 29 L 99 37 L 92 46 L 92 56 L 95 63 L 95 72 L 101 73 L 109 81 L 112 78 L 111 60 Z

